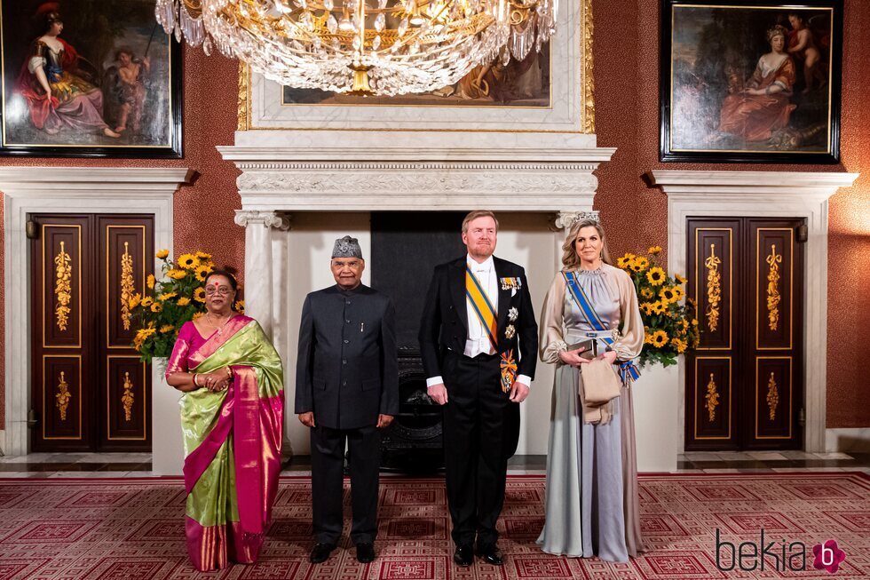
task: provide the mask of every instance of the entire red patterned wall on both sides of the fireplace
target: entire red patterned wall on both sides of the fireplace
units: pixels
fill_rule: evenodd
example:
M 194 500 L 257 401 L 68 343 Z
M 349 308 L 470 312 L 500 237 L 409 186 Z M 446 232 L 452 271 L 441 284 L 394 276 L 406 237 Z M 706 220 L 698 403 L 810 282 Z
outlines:
M 864 105 L 870 77 L 870 4 L 847 2 L 842 79 L 842 166 L 711 165 L 658 161 L 658 0 L 594 0 L 596 119 L 598 145 L 618 147 L 598 171 L 597 208 L 614 253 L 667 247 L 667 198 L 645 186 L 653 169 L 853 171 L 855 187 L 830 203 L 828 302 L 828 427 L 870 426 L 870 390 L 860 362 L 870 342 L 870 118 Z M 175 203 L 175 251 L 212 251 L 218 263 L 241 270 L 244 234 L 233 224 L 240 206 L 235 171 L 215 150 L 231 144 L 235 128 L 236 66 L 202 51 L 185 56 L 185 159 L 169 162 L 3 160 L 26 165 L 186 166 L 200 175 Z M 2 210 L 0 210 L 2 211 Z M 2 241 L 0 241 L 2 244 Z M 0 273 L 2 276 L 3 273 Z M 2 282 L 2 280 L 0 280 Z M 0 285 L 0 309 L 3 307 Z M 0 428 L 3 428 L 4 366 L 0 324 Z

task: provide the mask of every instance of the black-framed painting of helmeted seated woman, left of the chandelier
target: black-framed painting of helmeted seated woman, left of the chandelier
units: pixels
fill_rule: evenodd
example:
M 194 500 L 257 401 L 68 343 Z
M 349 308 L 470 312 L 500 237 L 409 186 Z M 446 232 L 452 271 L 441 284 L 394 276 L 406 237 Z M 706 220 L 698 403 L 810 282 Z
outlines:
M 180 56 L 153 0 L 0 0 L 0 155 L 180 158 Z

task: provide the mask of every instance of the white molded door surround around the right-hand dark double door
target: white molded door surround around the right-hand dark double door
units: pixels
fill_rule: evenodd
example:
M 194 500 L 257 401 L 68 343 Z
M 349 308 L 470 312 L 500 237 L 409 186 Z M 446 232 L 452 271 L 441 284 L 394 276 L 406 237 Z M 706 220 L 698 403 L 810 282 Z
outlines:
M 858 173 L 803 171 L 652 171 L 651 181 L 668 195 L 668 269 L 686 272 L 686 219 L 690 217 L 805 218 L 803 308 L 804 449 L 826 448 L 827 408 L 827 200 L 850 187 Z M 680 397 L 684 406 L 684 369 Z M 680 415 L 681 449 L 684 416 Z

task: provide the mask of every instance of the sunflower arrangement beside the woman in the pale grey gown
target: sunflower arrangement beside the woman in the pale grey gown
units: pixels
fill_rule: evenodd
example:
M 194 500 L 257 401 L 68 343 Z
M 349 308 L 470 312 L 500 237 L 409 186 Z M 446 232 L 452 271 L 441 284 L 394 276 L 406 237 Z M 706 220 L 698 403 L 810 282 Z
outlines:
M 653 246 L 644 256 L 625 254 L 616 260 L 616 266 L 631 276 L 640 301 L 645 334 L 642 366 L 650 362 L 666 367 L 676 364 L 676 357 L 696 348 L 700 338 L 694 302 L 685 296 L 687 281 L 679 274 L 668 276 L 658 266 L 660 253 L 660 246 Z

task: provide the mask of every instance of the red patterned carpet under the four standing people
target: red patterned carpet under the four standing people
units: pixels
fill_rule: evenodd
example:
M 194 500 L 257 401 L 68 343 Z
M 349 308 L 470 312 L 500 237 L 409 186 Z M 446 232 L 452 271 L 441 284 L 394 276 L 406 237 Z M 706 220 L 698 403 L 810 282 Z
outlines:
M 542 476 L 508 481 L 500 545 L 503 568 L 451 560 L 443 481 L 384 478 L 378 559 L 359 564 L 349 540 L 312 567 L 311 488 L 307 477 L 281 478 L 275 521 L 257 566 L 233 566 L 203 577 L 310 580 L 441 580 L 490 578 L 864 578 L 870 574 L 870 478 L 858 473 L 680 474 L 641 476 L 645 538 L 652 548 L 627 564 L 540 552 Z M 349 496 L 345 488 L 345 510 Z M 197 577 L 183 543 L 184 489 L 177 479 L 0 480 L 0 578 L 119 579 Z M 787 557 L 806 545 L 802 572 L 768 556 L 762 571 L 716 568 L 722 542 L 759 543 Z M 345 534 L 347 533 L 345 527 Z M 812 568 L 814 544 L 835 540 L 846 559 L 831 575 Z M 744 547 L 749 554 L 750 548 Z M 719 552 L 732 565 L 727 547 Z M 797 562 L 798 560 L 792 560 Z M 760 559 L 744 558 L 744 568 Z M 795 563 L 795 567 L 798 566 Z M 779 568 L 779 569 L 776 569 Z

